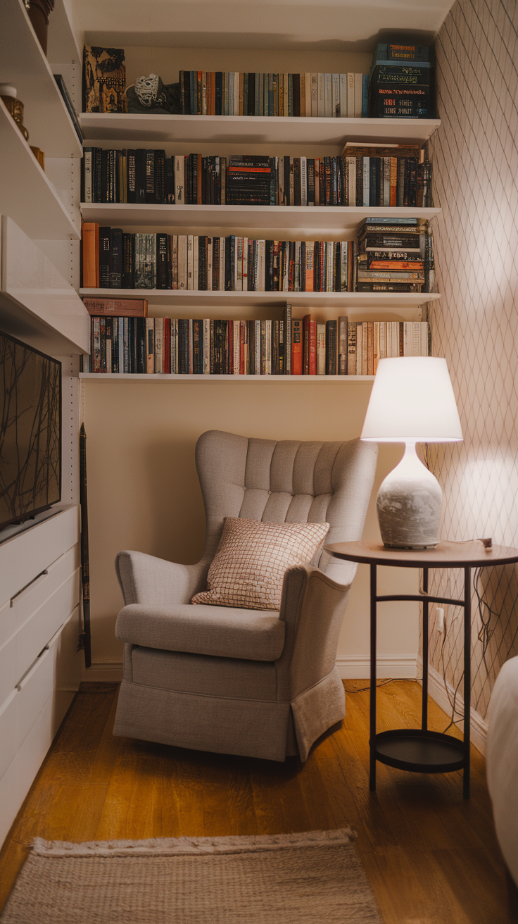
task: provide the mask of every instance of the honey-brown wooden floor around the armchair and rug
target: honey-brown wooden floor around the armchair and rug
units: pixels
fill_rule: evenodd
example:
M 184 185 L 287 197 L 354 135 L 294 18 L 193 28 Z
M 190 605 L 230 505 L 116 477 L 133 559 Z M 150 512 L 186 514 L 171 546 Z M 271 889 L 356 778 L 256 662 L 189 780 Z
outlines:
M 364 687 L 347 681 L 346 687 Z M 416 726 L 420 687 L 379 688 L 379 731 Z M 507 924 L 507 895 L 484 760 L 472 797 L 460 773 L 378 764 L 368 790 L 368 693 L 347 697 L 338 730 L 303 766 L 114 738 L 116 690 L 83 685 L 0 853 L 0 907 L 34 836 L 90 841 L 269 834 L 351 824 L 385 924 Z M 430 727 L 448 720 L 430 699 Z

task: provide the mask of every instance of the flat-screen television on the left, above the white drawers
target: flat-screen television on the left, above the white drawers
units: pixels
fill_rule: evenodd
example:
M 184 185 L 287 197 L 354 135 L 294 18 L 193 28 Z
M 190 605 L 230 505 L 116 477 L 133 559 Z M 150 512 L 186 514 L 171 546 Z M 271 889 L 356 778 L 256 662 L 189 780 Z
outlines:
M 0 332 L 0 529 L 61 500 L 61 363 Z

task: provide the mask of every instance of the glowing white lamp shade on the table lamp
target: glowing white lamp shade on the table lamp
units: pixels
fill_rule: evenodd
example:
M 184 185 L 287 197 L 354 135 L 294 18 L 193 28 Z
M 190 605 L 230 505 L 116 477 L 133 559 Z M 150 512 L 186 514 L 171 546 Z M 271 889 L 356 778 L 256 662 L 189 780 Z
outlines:
M 376 443 L 461 441 L 446 359 L 380 359 L 361 439 Z

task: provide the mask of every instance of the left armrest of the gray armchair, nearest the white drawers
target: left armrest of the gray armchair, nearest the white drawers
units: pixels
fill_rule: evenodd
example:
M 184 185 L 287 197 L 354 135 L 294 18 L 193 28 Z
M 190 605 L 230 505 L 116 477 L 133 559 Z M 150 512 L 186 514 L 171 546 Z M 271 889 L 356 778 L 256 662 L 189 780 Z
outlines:
M 115 571 L 128 603 L 167 606 L 168 603 L 188 603 L 206 584 L 210 562 L 197 565 L 176 565 L 163 558 L 143 552 L 119 552 Z

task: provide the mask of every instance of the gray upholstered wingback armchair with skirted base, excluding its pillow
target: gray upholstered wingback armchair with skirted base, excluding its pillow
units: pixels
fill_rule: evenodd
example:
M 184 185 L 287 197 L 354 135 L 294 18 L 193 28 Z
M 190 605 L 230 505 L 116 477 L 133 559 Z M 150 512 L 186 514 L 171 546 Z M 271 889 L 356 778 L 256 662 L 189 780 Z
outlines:
M 121 552 L 116 569 L 126 606 L 114 735 L 182 748 L 284 760 L 307 759 L 313 742 L 343 719 L 335 666 L 355 567 L 321 550 L 290 568 L 280 613 L 194 605 L 224 517 L 328 522 L 326 541 L 361 538 L 377 446 L 256 440 L 210 431 L 196 465 L 207 518 L 198 565 Z

